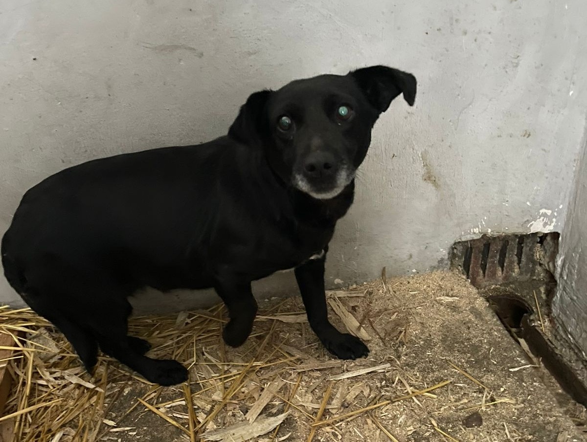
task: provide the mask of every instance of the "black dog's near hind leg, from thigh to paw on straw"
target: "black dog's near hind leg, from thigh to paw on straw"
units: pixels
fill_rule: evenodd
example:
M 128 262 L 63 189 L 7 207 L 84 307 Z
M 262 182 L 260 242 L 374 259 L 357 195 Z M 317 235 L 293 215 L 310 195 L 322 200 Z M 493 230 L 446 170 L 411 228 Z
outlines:
M 149 343 L 127 335 L 130 292 L 116 278 L 84 259 L 72 264 L 47 255 L 39 264 L 27 276 L 29 286 L 43 287 L 43 296 L 27 292 L 23 298 L 63 332 L 89 370 L 96 363 L 97 341 L 104 353 L 150 382 L 172 385 L 187 379 L 180 363 L 144 356 Z

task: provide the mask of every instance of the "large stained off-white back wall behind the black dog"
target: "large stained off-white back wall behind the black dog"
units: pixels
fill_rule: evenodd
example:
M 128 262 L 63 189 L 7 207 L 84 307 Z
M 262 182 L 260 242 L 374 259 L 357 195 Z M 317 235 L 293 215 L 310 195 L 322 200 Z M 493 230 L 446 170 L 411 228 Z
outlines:
M 0 12 L 0 231 L 60 168 L 206 141 L 255 90 L 376 63 L 413 72 L 419 95 L 377 123 L 330 285 L 444 266 L 453 241 L 481 232 L 562 228 L 587 114 L 584 0 L 0 0 Z M 282 276 L 259 290 L 293 287 Z M 15 299 L 2 279 L 0 300 Z

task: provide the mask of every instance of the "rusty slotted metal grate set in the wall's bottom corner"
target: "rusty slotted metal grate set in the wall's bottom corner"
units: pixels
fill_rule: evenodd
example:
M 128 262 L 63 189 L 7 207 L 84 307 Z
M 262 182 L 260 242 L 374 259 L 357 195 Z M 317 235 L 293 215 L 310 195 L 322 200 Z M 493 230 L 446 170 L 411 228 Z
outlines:
M 451 266 L 463 270 L 477 287 L 541 279 L 554 273 L 558 233 L 483 235 L 453 245 Z

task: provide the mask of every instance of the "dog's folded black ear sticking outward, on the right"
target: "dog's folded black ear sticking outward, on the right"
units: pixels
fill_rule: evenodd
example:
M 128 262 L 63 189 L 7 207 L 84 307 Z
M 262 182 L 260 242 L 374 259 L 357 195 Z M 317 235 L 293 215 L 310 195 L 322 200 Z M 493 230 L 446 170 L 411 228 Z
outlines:
M 404 99 L 410 106 L 416 100 L 416 77 L 411 73 L 403 72 L 387 66 L 371 66 L 349 72 L 369 102 L 379 111 L 385 112 L 392 100 L 403 93 Z

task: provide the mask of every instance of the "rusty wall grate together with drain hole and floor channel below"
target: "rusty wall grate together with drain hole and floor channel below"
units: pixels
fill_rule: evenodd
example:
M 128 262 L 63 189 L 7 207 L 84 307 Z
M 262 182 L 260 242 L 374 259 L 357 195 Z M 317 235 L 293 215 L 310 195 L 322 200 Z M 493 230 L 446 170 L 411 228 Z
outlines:
M 558 241 L 555 232 L 484 235 L 454 243 L 450 266 L 467 275 L 516 342 L 523 339 L 562 389 L 587 406 L 587 363 L 556 327 L 545 335 L 536 312 L 538 303 L 540 320 L 551 320 Z

